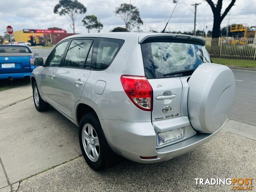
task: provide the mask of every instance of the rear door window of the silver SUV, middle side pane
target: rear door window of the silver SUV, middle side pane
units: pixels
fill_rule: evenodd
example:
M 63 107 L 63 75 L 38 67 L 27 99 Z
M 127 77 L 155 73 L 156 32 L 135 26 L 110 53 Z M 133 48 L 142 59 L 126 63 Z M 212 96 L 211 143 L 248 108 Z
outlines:
M 90 68 L 90 64 L 88 65 L 88 62 L 86 62 L 86 57 L 90 51 L 92 42 L 93 40 L 88 39 L 72 40 L 66 54 L 64 66 Z

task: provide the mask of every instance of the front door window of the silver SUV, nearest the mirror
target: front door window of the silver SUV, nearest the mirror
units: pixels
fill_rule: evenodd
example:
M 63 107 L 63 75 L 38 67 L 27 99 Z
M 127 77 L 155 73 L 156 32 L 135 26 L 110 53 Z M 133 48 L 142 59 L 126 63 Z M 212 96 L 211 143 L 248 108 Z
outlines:
M 60 66 L 60 62 L 65 52 L 67 44 L 68 44 L 68 41 L 65 41 L 59 44 L 56 48 L 54 48 L 54 50 L 48 56 L 47 64 L 46 64 L 47 66 Z

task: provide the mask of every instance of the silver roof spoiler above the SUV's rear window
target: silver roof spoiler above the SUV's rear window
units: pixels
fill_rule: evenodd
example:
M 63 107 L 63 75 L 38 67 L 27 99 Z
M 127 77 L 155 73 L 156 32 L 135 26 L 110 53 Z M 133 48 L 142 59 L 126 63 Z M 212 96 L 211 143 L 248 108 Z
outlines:
M 141 33 L 138 37 L 138 43 L 143 43 L 149 40 L 156 40 L 156 39 L 175 39 L 175 40 L 188 40 L 188 41 L 194 41 L 198 42 L 199 44 L 202 44 L 203 46 L 206 43 L 206 40 L 204 38 L 191 36 L 191 35 L 183 35 L 183 34 L 172 34 L 172 33 Z

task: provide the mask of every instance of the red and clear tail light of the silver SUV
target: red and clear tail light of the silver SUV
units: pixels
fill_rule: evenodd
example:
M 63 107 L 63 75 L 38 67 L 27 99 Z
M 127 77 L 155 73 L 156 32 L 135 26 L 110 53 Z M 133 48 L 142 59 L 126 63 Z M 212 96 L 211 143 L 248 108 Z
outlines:
M 121 83 L 130 100 L 144 111 L 152 111 L 152 87 L 144 76 L 122 75 Z

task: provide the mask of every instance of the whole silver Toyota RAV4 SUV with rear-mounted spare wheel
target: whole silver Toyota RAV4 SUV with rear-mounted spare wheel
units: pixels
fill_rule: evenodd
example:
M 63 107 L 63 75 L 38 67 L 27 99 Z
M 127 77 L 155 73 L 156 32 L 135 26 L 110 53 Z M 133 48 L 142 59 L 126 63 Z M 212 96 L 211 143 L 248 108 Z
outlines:
M 234 99 L 232 71 L 212 64 L 204 45 L 180 34 L 70 36 L 45 62 L 34 60 L 35 107 L 50 104 L 79 127 L 94 170 L 120 156 L 140 163 L 180 156 L 220 131 Z

